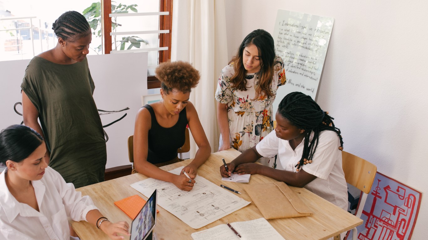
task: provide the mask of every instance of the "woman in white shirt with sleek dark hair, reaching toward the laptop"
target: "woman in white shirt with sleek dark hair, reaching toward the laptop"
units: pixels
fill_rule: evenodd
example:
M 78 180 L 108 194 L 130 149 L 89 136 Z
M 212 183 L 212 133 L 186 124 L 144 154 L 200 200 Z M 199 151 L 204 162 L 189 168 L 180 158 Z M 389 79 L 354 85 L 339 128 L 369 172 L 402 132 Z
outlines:
M 43 138 L 33 129 L 12 125 L 0 133 L 0 239 L 69 240 L 67 217 L 85 220 L 111 239 L 129 236 L 128 223 L 111 223 L 89 196 L 48 167 Z

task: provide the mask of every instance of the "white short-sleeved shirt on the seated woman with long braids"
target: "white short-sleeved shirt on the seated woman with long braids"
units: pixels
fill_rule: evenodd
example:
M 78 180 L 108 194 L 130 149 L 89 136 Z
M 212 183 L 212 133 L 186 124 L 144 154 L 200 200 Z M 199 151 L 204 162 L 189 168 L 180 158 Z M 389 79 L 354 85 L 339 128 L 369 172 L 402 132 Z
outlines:
M 309 137 L 312 140 L 314 132 Z M 327 201 L 344 210 L 348 210 L 348 186 L 342 169 L 342 152 L 339 150 L 340 142 L 336 132 L 322 131 L 319 142 L 311 164 L 303 165 L 301 168 L 306 173 L 317 178 L 306 184 L 305 188 L 321 196 Z M 276 169 L 296 173 L 296 164 L 303 154 L 302 142 L 293 150 L 288 140 L 276 137 L 275 131 L 263 138 L 256 145 L 256 150 L 264 157 L 276 158 Z

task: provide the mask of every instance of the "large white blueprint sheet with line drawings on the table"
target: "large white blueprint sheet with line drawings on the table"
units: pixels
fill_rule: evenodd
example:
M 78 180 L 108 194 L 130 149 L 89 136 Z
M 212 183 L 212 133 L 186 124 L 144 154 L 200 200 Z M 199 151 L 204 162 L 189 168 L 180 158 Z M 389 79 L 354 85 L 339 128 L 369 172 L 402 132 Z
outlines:
M 178 167 L 169 172 L 179 174 L 182 168 Z M 196 184 L 189 192 L 178 189 L 170 182 L 152 178 L 133 183 L 131 187 L 147 197 L 158 189 L 158 205 L 195 229 L 250 204 L 199 175 L 195 181 Z

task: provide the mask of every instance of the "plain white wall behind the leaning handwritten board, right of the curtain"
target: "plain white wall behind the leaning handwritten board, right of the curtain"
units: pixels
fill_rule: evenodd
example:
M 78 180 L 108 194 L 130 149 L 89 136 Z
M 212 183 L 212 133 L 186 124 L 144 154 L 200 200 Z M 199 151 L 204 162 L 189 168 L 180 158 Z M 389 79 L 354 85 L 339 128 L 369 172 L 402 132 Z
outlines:
M 273 34 L 277 9 L 335 19 L 317 102 L 336 118 L 345 151 L 422 192 L 412 239 L 426 239 L 428 2 L 229 0 L 229 59 L 254 29 Z

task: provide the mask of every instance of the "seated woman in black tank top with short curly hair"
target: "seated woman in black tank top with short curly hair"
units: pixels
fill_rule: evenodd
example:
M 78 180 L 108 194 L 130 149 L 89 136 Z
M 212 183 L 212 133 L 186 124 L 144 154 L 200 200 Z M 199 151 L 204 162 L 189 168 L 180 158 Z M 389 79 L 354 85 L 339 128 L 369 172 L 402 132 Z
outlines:
M 161 82 L 162 99 L 143 106 L 137 113 L 133 173 L 172 182 L 179 189 L 190 191 L 198 167 L 211 153 L 196 109 L 189 102 L 190 91 L 199 82 L 199 72 L 187 62 L 175 61 L 160 64 L 155 73 Z M 187 125 L 198 145 L 195 158 L 180 175 L 161 170 L 158 167 L 180 161 L 177 149 L 184 144 Z

